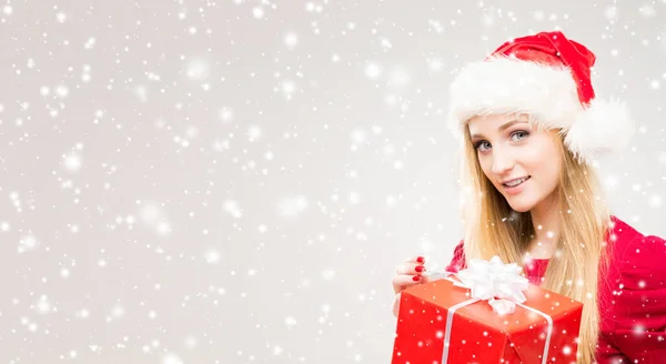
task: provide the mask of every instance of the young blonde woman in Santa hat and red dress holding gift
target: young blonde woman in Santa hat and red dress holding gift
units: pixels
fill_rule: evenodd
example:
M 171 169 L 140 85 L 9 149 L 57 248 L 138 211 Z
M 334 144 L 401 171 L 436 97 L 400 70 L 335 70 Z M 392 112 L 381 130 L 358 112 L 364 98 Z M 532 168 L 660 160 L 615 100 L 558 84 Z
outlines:
M 450 89 L 461 142 L 464 240 L 447 271 L 498 255 L 534 284 L 583 302 L 578 363 L 666 363 L 666 241 L 612 215 L 592 161 L 625 146 L 627 109 L 595 98 L 595 55 L 562 32 L 502 44 Z M 397 266 L 400 292 L 427 282 Z

